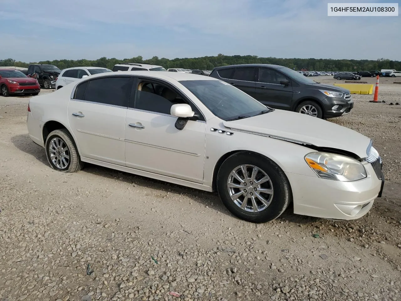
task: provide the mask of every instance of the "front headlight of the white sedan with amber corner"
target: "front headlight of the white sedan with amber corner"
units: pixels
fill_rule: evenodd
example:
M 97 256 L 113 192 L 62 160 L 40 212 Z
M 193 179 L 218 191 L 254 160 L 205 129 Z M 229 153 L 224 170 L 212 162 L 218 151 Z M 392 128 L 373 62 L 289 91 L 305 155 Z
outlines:
M 332 153 L 314 152 L 305 161 L 319 178 L 334 181 L 357 181 L 366 178 L 362 163 L 350 157 Z

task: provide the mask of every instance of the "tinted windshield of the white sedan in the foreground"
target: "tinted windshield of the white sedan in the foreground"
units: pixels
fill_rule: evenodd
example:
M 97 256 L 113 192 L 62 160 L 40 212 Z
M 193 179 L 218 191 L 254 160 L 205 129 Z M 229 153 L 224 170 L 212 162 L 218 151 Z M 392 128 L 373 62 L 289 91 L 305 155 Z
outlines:
M 267 107 L 232 85 L 218 80 L 180 81 L 215 116 L 229 120 L 255 116 Z

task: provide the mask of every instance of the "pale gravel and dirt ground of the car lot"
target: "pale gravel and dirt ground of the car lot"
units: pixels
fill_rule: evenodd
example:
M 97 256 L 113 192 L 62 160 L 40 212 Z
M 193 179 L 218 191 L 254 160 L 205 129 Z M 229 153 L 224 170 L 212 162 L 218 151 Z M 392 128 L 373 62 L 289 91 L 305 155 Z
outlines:
M 27 135 L 29 98 L 0 98 L 0 301 L 401 300 L 401 106 L 388 105 L 401 85 L 390 82 L 386 103 L 354 95 L 353 112 L 330 120 L 383 156 L 383 197 L 351 222 L 289 208 L 255 225 L 215 193 L 94 165 L 53 171 Z

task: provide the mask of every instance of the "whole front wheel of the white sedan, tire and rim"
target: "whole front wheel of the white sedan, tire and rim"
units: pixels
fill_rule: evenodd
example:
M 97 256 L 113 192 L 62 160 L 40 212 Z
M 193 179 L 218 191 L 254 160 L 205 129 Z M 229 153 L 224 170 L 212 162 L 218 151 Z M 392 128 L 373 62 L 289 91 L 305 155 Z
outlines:
M 253 223 L 278 218 L 292 201 L 284 171 L 270 159 L 250 152 L 235 153 L 223 162 L 217 191 L 232 214 Z

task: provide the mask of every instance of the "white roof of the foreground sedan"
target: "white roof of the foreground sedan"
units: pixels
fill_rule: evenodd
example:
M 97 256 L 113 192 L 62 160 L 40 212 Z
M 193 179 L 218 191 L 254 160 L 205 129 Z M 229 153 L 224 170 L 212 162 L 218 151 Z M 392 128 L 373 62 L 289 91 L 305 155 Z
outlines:
M 118 76 L 118 75 L 138 75 L 144 77 L 153 77 L 156 79 L 164 79 L 167 81 L 171 81 L 171 79 L 176 81 L 184 81 L 184 80 L 219 80 L 214 77 L 209 77 L 205 75 L 198 75 L 192 73 L 183 73 L 183 72 L 166 72 L 166 71 L 118 71 L 118 72 L 105 72 L 105 73 L 98 73 L 95 75 L 90 75 L 89 78 L 96 78 L 102 76 Z

